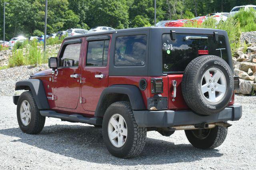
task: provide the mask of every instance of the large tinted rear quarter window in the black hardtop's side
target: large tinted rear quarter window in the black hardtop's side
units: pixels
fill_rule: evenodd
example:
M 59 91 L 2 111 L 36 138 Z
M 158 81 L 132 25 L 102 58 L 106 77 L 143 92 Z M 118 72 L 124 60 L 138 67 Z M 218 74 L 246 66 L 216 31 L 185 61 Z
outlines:
M 116 66 L 143 66 L 146 62 L 147 36 L 122 36 L 116 39 Z

